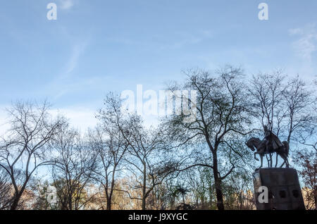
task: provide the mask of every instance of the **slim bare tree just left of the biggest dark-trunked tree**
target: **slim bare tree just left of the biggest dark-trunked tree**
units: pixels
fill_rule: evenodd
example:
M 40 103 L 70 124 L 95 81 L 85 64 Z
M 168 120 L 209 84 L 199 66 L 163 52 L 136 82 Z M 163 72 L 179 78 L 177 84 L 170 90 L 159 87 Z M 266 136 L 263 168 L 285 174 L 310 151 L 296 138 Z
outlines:
M 158 149 L 163 144 L 160 132 L 144 129 L 138 116 L 131 119 L 128 135 L 129 154 L 126 161 L 135 176 L 135 187 L 142 189 L 142 196 L 135 199 L 142 200 L 142 210 L 145 210 L 149 194 L 175 171 L 175 167 L 160 158 Z

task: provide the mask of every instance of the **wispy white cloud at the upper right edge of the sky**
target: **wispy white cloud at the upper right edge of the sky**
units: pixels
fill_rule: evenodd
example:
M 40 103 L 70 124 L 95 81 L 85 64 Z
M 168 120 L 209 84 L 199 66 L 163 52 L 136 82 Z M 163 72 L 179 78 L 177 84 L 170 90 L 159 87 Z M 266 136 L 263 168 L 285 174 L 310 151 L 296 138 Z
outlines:
M 303 28 L 290 29 L 288 32 L 290 35 L 299 36 L 292 46 L 298 56 L 310 62 L 313 53 L 317 50 L 316 25 L 306 25 Z

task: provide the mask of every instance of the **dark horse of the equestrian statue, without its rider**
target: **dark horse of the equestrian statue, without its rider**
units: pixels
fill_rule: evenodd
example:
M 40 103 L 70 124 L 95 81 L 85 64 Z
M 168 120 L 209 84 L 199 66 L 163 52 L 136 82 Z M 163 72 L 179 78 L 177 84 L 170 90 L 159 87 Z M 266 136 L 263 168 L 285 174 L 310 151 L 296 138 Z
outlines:
M 267 146 L 266 139 L 263 139 L 261 141 L 261 139 L 259 139 L 257 137 L 251 137 L 246 142 L 246 144 L 247 144 L 247 147 L 249 147 L 249 149 L 251 149 L 252 151 L 256 151 L 256 152 L 254 152 L 254 159 L 256 159 L 256 161 L 259 161 L 259 158 L 256 158 L 256 154 L 260 155 L 261 166 L 259 168 L 261 168 L 263 166 L 263 156 L 265 154 L 270 154 L 271 167 L 272 167 L 272 156 L 271 156 L 271 154 L 273 154 L 274 152 L 276 153 L 275 167 L 278 166 L 278 156 L 280 156 L 280 157 L 282 157 L 282 159 L 284 159 L 284 162 L 282 163 L 282 165 L 280 167 L 284 166 L 284 164 L 286 164 L 287 168 L 290 167 L 290 163 L 288 163 L 288 159 L 287 159 L 288 153 L 290 151 L 290 146 L 289 146 L 288 142 L 284 141 L 278 147 L 273 149 L 273 147 L 266 147 Z

